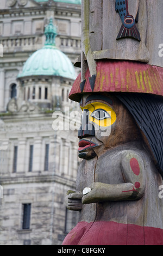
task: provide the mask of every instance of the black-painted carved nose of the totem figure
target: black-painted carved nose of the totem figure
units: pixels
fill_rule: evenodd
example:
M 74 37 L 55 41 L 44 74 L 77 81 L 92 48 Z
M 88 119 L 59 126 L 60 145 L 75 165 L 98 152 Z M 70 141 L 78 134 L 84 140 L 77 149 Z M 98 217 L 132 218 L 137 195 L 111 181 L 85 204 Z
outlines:
M 82 126 L 78 131 L 78 138 L 82 139 L 88 136 L 95 136 L 95 127 L 89 123 L 89 110 L 84 109 L 82 117 Z

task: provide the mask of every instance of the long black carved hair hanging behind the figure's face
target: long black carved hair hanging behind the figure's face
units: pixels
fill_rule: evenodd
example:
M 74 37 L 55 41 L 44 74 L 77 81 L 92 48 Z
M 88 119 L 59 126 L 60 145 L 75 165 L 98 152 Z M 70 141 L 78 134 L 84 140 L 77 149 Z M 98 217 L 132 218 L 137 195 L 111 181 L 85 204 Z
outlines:
M 163 102 L 152 95 L 118 95 L 145 135 L 156 166 L 163 176 Z M 158 143 L 159 142 L 159 143 Z

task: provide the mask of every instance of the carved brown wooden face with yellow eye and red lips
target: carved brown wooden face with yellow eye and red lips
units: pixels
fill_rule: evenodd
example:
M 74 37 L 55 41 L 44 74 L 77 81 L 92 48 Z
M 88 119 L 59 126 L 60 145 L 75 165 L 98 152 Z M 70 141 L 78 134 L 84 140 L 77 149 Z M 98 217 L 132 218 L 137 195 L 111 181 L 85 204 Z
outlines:
M 139 130 L 127 108 L 109 94 L 84 95 L 83 112 L 78 137 L 79 157 L 91 159 L 109 148 L 139 138 Z

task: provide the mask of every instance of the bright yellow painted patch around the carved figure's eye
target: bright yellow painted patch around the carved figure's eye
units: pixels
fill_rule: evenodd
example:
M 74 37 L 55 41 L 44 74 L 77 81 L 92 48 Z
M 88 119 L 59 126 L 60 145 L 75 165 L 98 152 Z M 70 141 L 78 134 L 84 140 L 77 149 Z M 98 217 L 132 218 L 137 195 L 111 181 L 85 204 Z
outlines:
M 84 109 L 89 111 L 89 120 L 99 126 L 108 127 L 116 121 L 116 113 L 104 103 L 93 102 L 82 107 L 82 111 Z

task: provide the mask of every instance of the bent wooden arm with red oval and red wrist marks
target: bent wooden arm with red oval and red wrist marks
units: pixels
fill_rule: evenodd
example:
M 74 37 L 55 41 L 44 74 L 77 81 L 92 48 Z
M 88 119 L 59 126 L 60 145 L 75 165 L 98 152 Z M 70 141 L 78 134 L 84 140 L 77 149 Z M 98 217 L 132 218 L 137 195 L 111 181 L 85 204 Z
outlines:
M 82 203 L 90 204 L 104 201 L 139 200 L 145 192 L 145 168 L 140 155 L 129 151 L 122 154 L 122 184 L 93 182 L 91 192 L 83 196 Z M 112 174 L 114 175 L 114 173 Z

